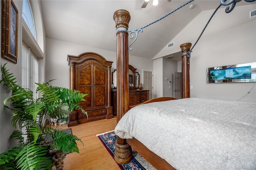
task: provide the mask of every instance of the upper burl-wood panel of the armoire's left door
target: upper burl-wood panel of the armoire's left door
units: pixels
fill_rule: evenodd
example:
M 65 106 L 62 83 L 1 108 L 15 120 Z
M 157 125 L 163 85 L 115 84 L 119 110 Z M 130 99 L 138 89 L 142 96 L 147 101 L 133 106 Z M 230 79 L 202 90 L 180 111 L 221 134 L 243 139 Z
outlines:
M 92 65 L 86 65 L 85 68 L 78 69 L 78 82 L 79 85 L 91 85 L 92 82 Z

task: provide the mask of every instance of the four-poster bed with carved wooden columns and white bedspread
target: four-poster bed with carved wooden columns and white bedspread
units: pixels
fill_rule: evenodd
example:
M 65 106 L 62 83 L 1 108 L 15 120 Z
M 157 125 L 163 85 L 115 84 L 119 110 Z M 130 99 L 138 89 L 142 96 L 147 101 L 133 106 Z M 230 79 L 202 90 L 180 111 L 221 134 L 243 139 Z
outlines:
M 117 134 L 117 140 L 116 140 L 116 149 L 115 149 L 115 154 L 114 154 L 115 161 L 119 164 L 126 164 L 126 163 L 130 162 L 130 159 L 132 157 L 132 151 L 131 151 L 131 146 L 132 146 L 146 160 L 148 160 L 148 162 L 150 162 L 156 169 L 168 169 L 168 170 L 169 169 L 209 169 L 209 167 L 215 168 L 215 169 L 228 169 L 229 167 L 230 168 L 234 167 L 235 169 L 247 169 L 246 167 L 249 167 L 251 169 L 256 169 L 256 144 L 255 144 L 256 105 L 255 105 L 255 103 L 228 102 L 230 108 L 229 107 L 224 108 L 224 106 L 222 108 L 222 107 L 214 105 L 216 108 L 218 108 L 218 111 L 214 112 L 215 108 L 212 107 L 212 104 L 213 103 L 222 103 L 222 105 L 223 105 L 223 103 L 225 103 L 225 101 L 214 101 L 214 100 L 212 101 L 209 99 L 202 99 L 204 101 L 199 101 L 201 99 L 190 99 L 190 75 L 189 75 L 189 55 L 190 55 L 190 53 L 189 53 L 189 51 L 190 51 L 191 43 L 184 43 L 184 44 L 180 45 L 180 48 L 182 51 L 182 99 L 174 99 L 171 97 L 169 97 L 169 98 L 162 97 L 162 98 L 152 99 L 142 105 L 133 107 L 132 109 L 129 108 L 129 85 L 128 85 L 128 49 L 129 49 L 129 47 L 128 47 L 128 32 L 127 31 L 128 31 L 128 23 L 130 21 L 130 14 L 126 10 L 117 10 L 116 12 L 114 12 L 113 18 L 116 23 L 116 36 L 117 36 L 117 77 L 118 77 L 117 87 L 121 87 L 121 88 L 117 89 L 117 103 L 116 103 L 116 105 L 117 105 L 117 108 L 116 108 L 117 109 L 117 126 L 115 129 L 115 132 Z M 190 104 L 188 104 L 188 103 L 182 104 L 183 101 L 184 102 L 186 101 Z M 190 107 L 194 108 L 192 103 L 195 101 L 197 101 L 200 104 L 204 104 L 205 110 L 204 110 L 204 112 L 201 112 L 201 113 L 197 113 L 196 111 L 194 111 L 194 113 L 200 114 L 201 117 L 198 116 L 197 118 L 192 118 L 192 114 L 190 113 L 191 112 Z M 216 145 L 216 147 L 218 148 L 220 146 L 222 148 L 226 148 L 226 146 L 234 144 L 234 146 L 235 146 L 234 148 L 236 150 L 234 150 L 234 152 L 232 152 L 232 155 L 230 155 L 230 153 L 229 153 L 231 151 L 225 151 L 223 149 L 222 150 L 218 150 L 218 149 L 214 150 L 214 148 L 212 148 L 212 146 L 209 146 L 209 148 L 206 149 L 206 148 L 204 148 L 207 143 L 206 140 L 200 140 L 200 139 L 193 139 L 194 143 L 192 143 L 192 144 L 195 144 L 196 141 L 198 141 L 199 143 L 196 143 L 196 144 L 201 145 L 202 148 L 199 148 L 199 147 L 195 148 L 193 154 L 187 155 L 188 157 L 184 157 L 184 154 L 185 154 L 185 151 L 186 151 L 186 153 L 190 152 L 190 150 L 188 149 L 192 146 L 192 144 L 190 142 L 183 141 L 183 144 L 179 144 L 180 145 L 179 147 L 175 147 L 174 144 L 171 144 L 173 147 L 168 148 L 170 143 L 172 143 L 174 139 L 178 140 L 178 138 L 176 138 L 177 136 L 185 137 L 184 131 L 186 131 L 187 125 L 185 125 L 183 123 L 180 125 L 180 126 L 184 127 L 183 129 L 181 128 L 183 131 L 179 130 L 179 128 L 178 128 L 176 131 L 180 132 L 180 134 L 176 134 L 177 136 L 175 136 L 175 138 L 174 138 L 174 134 L 172 134 L 172 135 L 170 135 L 170 136 L 172 136 L 172 138 L 167 138 L 165 136 L 162 138 L 161 142 L 157 142 L 157 140 L 155 140 L 155 142 L 153 143 L 153 146 L 157 143 L 162 147 L 163 150 L 170 151 L 170 153 L 168 152 L 167 154 L 166 153 L 162 154 L 162 153 L 158 152 L 158 149 L 154 150 L 154 147 L 147 144 L 147 141 L 150 140 L 150 138 L 146 139 L 146 138 L 143 138 L 142 136 L 149 136 L 149 135 L 136 136 L 135 134 L 132 133 L 133 131 L 143 131 L 145 128 L 149 128 L 149 127 L 143 127 L 142 129 L 140 128 L 140 130 L 134 130 L 135 127 L 132 126 L 132 125 L 134 125 L 134 121 L 131 121 L 132 122 L 131 125 L 128 125 L 128 120 L 126 120 L 126 119 L 132 119 L 132 118 L 126 118 L 126 117 L 129 117 L 129 115 L 131 115 L 131 117 L 134 117 L 134 119 L 136 117 L 136 120 L 139 120 L 139 121 L 142 121 L 145 118 L 141 118 L 140 114 L 136 114 L 136 113 L 142 113 L 141 115 L 146 115 L 146 117 L 153 117 L 153 116 L 148 116 L 148 114 L 154 113 L 155 115 L 158 115 L 158 117 L 160 117 L 159 116 L 160 113 L 155 113 L 154 111 L 148 111 L 149 113 L 146 113 L 146 112 L 144 112 L 144 110 L 147 110 L 148 106 L 154 106 L 154 107 L 152 107 L 154 110 L 154 108 L 158 108 L 157 105 L 163 105 L 163 106 L 168 105 L 168 107 L 172 108 L 173 105 L 176 106 L 177 103 L 184 106 L 184 108 L 180 109 L 180 110 L 183 110 L 182 113 L 186 113 L 187 117 L 182 117 L 182 118 L 184 118 L 186 120 L 188 120 L 190 118 L 192 122 L 200 123 L 196 126 L 196 129 L 190 130 L 191 133 L 187 134 L 186 136 L 193 136 L 192 132 L 194 132 L 194 130 L 199 130 L 201 128 L 200 125 L 204 125 L 205 130 L 210 130 L 210 128 L 208 128 L 206 125 L 208 125 L 208 123 L 209 123 L 209 125 L 212 125 L 211 121 L 214 121 L 213 114 L 220 115 L 220 117 L 222 118 L 222 121 L 220 121 L 220 125 L 222 125 L 221 129 L 226 130 L 225 126 L 227 126 L 228 129 L 230 130 L 230 131 L 228 131 L 228 133 L 232 132 L 232 135 L 230 136 L 230 138 L 232 138 L 232 136 L 234 138 L 233 138 L 233 140 L 231 140 L 231 139 L 227 140 L 228 139 L 227 137 L 229 136 L 229 134 L 223 132 L 224 137 L 223 136 L 222 137 L 218 136 L 218 137 L 220 138 L 219 143 L 224 144 L 224 146 Z M 237 107 L 235 107 L 235 106 L 237 106 Z M 188 108 L 185 108 L 185 107 L 188 107 Z M 236 108 L 236 109 L 233 110 L 233 108 Z M 241 108 L 243 108 L 242 111 L 241 111 Z M 129 109 L 130 109 L 130 111 L 129 111 Z M 248 109 L 248 111 L 245 112 L 246 109 Z M 143 112 L 141 112 L 141 110 L 143 110 Z M 230 113 L 230 115 L 227 114 L 227 112 L 226 112 L 229 110 L 230 110 L 230 112 L 228 112 L 228 113 Z M 166 111 L 167 111 L 167 109 L 166 109 Z M 135 112 L 135 113 L 132 113 L 132 112 Z M 244 117 L 239 116 L 240 112 L 243 113 L 241 115 L 244 115 Z M 168 113 L 164 113 L 164 114 L 168 115 Z M 174 115 L 175 114 L 177 117 L 177 113 L 174 113 Z M 236 114 L 236 115 L 234 115 L 234 114 Z M 173 114 L 171 114 L 171 115 L 173 115 Z M 202 117 L 202 115 L 204 115 L 205 119 L 203 119 L 204 117 Z M 207 115 L 209 115 L 210 117 L 207 118 Z M 139 118 L 137 118 L 137 116 L 139 116 Z M 191 116 L 191 117 L 189 117 L 189 116 Z M 228 124 L 227 122 L 225 122 L 224 120 L 226 119 L 226 117 L 228 117 L 232 123 L 235 123 L 234 126 L 240 125 L 240 126 L 238 126 L 237 129 L 239 129 L 239 127 L 244 127 L 245 129 L 243 129 L 243 130 L 240 129 L 237 132 L 232 131 L 233 124 L 232 123 Z M 249 117 L 249 118 L 247 119 L 247 117 Z M 156 118 L 156 117 L 154 117 L 154 118 Z M 164 118 L 163 117 L 161 117 L 161 118 L 162 118 L 162 120 L 161 121 L 158 120 L 157 124 L 163 124 L 162 121 L 164 120 Z M 170 119 L 176 119 L 176 118 L 170 118 Z M 156 119 L 151 120 L 151 121 L 157 122 Z M 150 123 L 152 123 L 152 122 L 150 122 Z M 223 122 L 225 124 L 222 124 Z M 192 124 L 189 122 L 186 122 L 186 123 Z M 147 124 L 149 125 L 149 123 L 147 123 Z M 169 124 L 172 125 L 172 121 L 170 121 Z M 169 124 L 166 123 L 166 126 Z M 218 126 L 218 125 L 219 124 L 216 124 L 216 126 Z M 215 131 L 218 131 L 218 128 L 216 126 L 214 127 L 212 125 L 212 128 L 213 129 L 215 128 Z M 131 127 L 131 129 L 129 129 L 129 127 Z M 152 129 L 152 127 L 149 129 Z M 167 130 L 164 128 L 160 128 L 160 127 L 157 127 L 156 129 L 159 132 L 162 131 L 164 133 L 166 133 L 166 131 L 167 131 L 168 134 L 173 132 L 172 127 L 169 127 Z M 239 132 L 240 136 L 236 136 L 236 134 L 238 132 Z M 246 134 L 243 132 L 246 132 Z M 150 132 L 147 132 L 147 133 L 150 134 Z M 200 130 L 197 134 L 201 134 L 202 136 L 204 136 L 204 131 Z M 216 135 L 218 135 L 218 134 L 216 134 Z M 158 136 L 161 136 L 161 135 L 159 134 Z M 243 143 L 243 144 L 241 143 L 241 145 L 239 143 L 236 143 L 236 141 L 234 140 L 234 139 L 240 138 L 240 137 L 241 138 L 244 137 L 244 139 L 246 138 L 246 141 L 242 140 L 242 142 L 245 142 L 245 143 Z M 214 136 L 211 136 L 211 138 L 212 138 L 212 141 L 215 141 L 215 140 L 213 140 L 213 138 L 215 138 Z M 187 137 L 185 139 L 189 140 Z M 227 140 L 226 143 L 224 143 L 225 140 Z M 163 144 L 163 142 L 165 142 L 165 143 Z M 213 142 L 213 145 L 214 144 L 215 143 Z M 175 143 L 175 145 L 177 145 L 177 143 Z M 188 145 L 188 147 L 184 147 L 184 145 Z M 246 148 L 246 151 L 244 151 L 242 148 L 240 148 L 240 146 L 244 147 L 245 145 L 248 145 L 248 148 Z M 215 147 L 215 145 L 214 145 L 214 147 Z M 242 150 L 242 152 L 238 152 L 238 150 Z M 213 151 L 213 153 L 211 153 L 210 151 Z M 179 153 L 179 152 L 181 152 L 181 153 Z M 221 156 L 218 157 L 218 155 L 215 155 L 216 152 L 217 153 L 223 152 L 223 153 L 220 153 L 220 155 L 222 157 Z M 198 156 L 199 153 L 205 154 L 205 157 L 200 158 L 200 156 Z M 165 155 L 167 155 L 168 158 Z M 191 157 L 192 157 L 192 159 L 189 159 Z M 212 160 L 212 157 L 214 157 L 215 160 Z M 232 161 L 230 161 L 230 160 L 232 160 Z M 242 162 L 242 163 L 238 164 L 237 162 Z M 192 164 L 192 166 L 190 166 L 189 164 Z

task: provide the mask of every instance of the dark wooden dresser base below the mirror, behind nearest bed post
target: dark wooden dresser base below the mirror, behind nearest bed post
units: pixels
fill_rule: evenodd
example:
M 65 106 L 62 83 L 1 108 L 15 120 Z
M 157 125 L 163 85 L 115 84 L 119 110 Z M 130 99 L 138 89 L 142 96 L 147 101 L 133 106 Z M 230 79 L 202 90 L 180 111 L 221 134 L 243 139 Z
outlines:
M 149 90 L 129 89 L 129 106 L 138 105 L 144 101 L 148 101 Z M 116 116 L 116 89 L 111 90 L 111 106 Z

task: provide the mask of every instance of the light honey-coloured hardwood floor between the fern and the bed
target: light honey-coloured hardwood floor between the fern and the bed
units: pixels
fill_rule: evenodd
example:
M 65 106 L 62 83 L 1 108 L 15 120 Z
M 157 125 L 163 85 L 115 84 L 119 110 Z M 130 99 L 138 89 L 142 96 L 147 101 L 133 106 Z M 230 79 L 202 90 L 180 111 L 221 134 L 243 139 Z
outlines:
M 82 140 L 78 142 L 80 153 L 67 154 L 64 159 L 64 170 L 119 170 L 118 165 L 100 142 L 96 134 L 114 130 L 116 117 L 79 124 L 68 127 L 67 124 L 59 125 L 57 128 L 71 128 L 72 134 Z M 52 168 L 56 170 L 56 168 Z

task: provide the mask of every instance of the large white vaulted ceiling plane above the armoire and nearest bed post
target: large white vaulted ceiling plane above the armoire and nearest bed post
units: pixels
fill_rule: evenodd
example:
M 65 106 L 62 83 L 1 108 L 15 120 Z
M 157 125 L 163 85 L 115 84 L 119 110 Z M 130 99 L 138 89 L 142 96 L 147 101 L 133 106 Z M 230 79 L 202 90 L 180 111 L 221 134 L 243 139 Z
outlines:
M 46 37 L 116 51 L 116 10 L 130 12 L 129 29 L 140 28 L 168 14 L 187 0 L 41 0 Z M 240 2 L 239 2 L 240 3 Z M 242 3 L 237 5 L 242 5 Z M 194 4 L 190 10 L 189 6 Z M 139 32 L 129 55 L 152 59 L 202 10 L 216 9 L 220 0 L 194 0 L 166 18 Z M 129 42 L 132 42 L 130 39 Z

